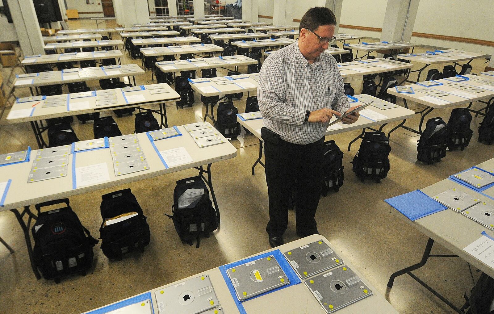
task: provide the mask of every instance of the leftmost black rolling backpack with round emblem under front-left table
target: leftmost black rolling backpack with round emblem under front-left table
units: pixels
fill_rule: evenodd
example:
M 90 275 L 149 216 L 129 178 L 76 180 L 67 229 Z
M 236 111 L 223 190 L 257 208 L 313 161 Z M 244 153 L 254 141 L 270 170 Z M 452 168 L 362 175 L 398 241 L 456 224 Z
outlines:
M 41 212 L 41 207 L 65 203 L 57 209 Z M 38 220 L 31 230 L 34 239 L 33 257 L 45 279 L 56 283 L 67 275 L 81 274 L 92 267 L 95 240 L 82 226 L 69 199 L 36 204 Z

